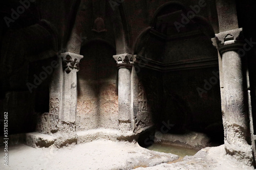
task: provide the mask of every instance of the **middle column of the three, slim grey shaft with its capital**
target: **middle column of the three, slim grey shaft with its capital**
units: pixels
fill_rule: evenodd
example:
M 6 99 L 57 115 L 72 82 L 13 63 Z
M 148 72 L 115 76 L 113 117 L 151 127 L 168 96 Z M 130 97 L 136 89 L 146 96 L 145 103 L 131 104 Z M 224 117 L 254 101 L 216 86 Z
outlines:
M 113 56 L 118 67 L 118 121 L 119 129 L 132 130 L 132 103 L 131 103 L 131 70 L 134 56 L 120 54 Z

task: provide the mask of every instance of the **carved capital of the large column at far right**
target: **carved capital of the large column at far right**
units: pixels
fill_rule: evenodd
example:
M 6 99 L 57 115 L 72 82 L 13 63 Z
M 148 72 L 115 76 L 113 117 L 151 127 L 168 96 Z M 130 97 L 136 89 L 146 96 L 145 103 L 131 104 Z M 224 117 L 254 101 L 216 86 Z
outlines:
M 221 55 L 227 51 L 239 50 L 244 45 L 243 29 L 239 28 L 215 34 L 215 38 L 211 40 Z

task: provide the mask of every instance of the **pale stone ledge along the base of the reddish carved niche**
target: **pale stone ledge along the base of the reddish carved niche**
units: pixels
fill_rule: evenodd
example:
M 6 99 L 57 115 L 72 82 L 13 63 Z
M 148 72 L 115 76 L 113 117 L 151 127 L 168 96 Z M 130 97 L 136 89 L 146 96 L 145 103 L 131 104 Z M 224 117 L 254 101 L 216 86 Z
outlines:
M 77 144 L 91 142 L 98 139 L 106 139 L 111 141 L 133 140 L 135 135 L 131 131 L 119 131 L 114 129 L 92 129 L 87 131 L 78 131 Z

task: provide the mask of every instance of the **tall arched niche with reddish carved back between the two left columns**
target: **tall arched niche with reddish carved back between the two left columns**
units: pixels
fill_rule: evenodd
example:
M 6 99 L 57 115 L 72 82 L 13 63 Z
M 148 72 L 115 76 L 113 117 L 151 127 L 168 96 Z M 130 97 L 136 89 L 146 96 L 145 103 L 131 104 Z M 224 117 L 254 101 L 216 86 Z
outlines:
M 77 88 L 77 131 L 118 128 L 115 49 L 101 41 L 81 47 Z

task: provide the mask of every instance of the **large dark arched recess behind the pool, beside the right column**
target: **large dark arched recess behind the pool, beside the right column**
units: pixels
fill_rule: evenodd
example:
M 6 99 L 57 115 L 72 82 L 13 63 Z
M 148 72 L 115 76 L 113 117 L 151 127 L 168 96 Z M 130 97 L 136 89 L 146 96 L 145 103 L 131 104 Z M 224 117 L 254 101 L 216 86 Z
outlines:
M 152 111 L 157 130 L 169 123 L 174 125 L 169 133 L 202 132 L 220 144 L 224 132 L 218 52 L 211 42 L 214 29 L 199 15 L 182 23 L 187 12 L 186 7 L 175 2 L 159 7 L 152 27 L 138 36 L 134 46 L 134 54 L 145 63 L 141 67 L 137 60 L 137 75 L 147 93 L 161 96 L 151 106 L 160 104 Z M 179 30 L 176 22 L 183 24 Z M 152 83 L 146 79 L 150 77 L 156 77 L 161 85 L 155 83 L 154 88 L 149 88 Z

